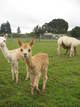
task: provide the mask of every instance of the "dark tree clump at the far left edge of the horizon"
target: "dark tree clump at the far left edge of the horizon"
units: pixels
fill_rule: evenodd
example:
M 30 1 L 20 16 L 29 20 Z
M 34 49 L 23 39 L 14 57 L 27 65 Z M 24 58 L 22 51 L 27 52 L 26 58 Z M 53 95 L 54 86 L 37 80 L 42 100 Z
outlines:
M 1 24 L 1 33 L 11 33 L 11 26 L 8 21 Z

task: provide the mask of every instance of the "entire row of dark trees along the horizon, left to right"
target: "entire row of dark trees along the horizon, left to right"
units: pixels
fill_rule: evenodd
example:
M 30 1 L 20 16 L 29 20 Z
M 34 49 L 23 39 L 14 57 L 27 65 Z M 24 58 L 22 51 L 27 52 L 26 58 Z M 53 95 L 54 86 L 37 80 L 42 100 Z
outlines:
M 36 25 L 33 31 L 30 33 L 31 35 L 36 35 L 39 37 L 43 35 L 45 32 L 50 32 L 54 34 L 69 34 L 73 37 L 80 37 L 80 26 L 74 27 L 71 31 L 68 31 L 69 24 L 64 19 L 53 19 L 48 23 L 44 23 L 42 26 Z M 2 33 L 12 33 L 11 25 L 9 21 L 6 23 L 2 23 L 0 26 L 0 34 Z M 21 29 L 18 26 L 17 32 L 18 34 L 21 33 Z

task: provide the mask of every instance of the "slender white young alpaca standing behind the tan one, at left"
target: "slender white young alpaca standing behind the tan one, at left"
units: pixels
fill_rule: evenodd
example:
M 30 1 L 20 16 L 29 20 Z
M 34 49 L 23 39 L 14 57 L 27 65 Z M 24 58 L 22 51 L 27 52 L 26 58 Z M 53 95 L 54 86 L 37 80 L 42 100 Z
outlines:
M 14 80 L 14 74 L 16 74 L 16 83 L 18 83 L 18 59 L 21 57 L 19 48 L 15 50 L 8 50 L 5 41 L 5 37 L 0 37 L 0 48 L 5 58 L 9 63 L 11 63 L 12 80 Z

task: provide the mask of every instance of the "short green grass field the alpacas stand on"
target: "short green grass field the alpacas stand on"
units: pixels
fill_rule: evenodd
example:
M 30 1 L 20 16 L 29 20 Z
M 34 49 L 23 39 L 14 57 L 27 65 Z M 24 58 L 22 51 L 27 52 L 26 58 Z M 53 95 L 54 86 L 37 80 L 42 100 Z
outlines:
M 26 42 L 26 40 L 23 40 Z M 17 40 L 8 39 L 9 49 L 18 47 Z M 44 94 L 30 95 L 30 80 L 25 80 L 26 66 L 19 61 L 19 84 L 11 79 L 11 66 L 0 51 L 0 107 L 80 107 L 80 46 L 78 55 L 57 55 L 56 41 L 36 42 L 33 55 L 49 55 L 48 81 Z M 39 88 L 42 86 L 42 78 Z

